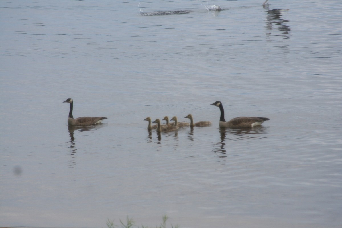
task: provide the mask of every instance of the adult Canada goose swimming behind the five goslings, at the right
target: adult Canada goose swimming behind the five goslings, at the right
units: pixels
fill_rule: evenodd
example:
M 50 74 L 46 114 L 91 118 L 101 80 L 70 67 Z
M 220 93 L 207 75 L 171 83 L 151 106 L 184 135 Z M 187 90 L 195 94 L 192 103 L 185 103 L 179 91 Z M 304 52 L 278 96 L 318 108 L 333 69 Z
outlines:
M 224 110 L 222 103 L 220 101 L 216 101 L 211 105 L 215 105 L 220 108 L 220 128 L 251 128 L 253 126 L 261 125 L 264 121 L 269 120 L 266 117 L 236 117 L 226 122 L 226 120 L 224 119 Z

